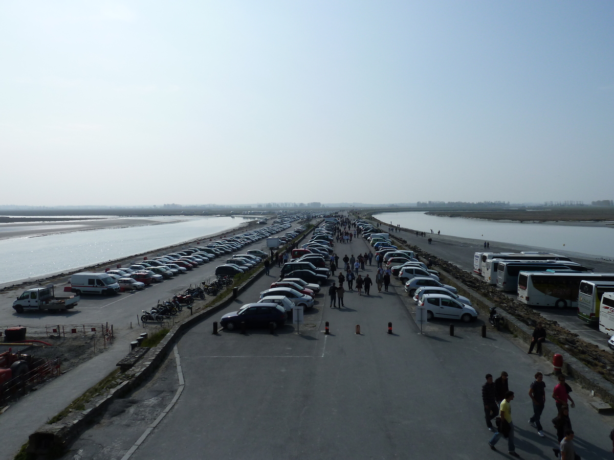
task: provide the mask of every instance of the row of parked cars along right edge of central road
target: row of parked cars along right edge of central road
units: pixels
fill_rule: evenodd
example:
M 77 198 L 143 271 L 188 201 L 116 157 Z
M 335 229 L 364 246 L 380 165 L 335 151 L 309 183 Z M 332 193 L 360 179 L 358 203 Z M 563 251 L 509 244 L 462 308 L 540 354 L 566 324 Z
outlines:
M 399 250 L 388 234 L 381 233 L 366 221 L 356 221 L 356 226 L 375 248 L 375 255 L 383 255 L 383 263 L 404 283 L 406 293 L 413 297 L 416 305 L 426 308 L 427 320 L 445 318 L 468 322 L 478 317 L 471 301 L 459 296 L 453 286 L 441 283 L 437 270 L 418 261 L 413 251 Z

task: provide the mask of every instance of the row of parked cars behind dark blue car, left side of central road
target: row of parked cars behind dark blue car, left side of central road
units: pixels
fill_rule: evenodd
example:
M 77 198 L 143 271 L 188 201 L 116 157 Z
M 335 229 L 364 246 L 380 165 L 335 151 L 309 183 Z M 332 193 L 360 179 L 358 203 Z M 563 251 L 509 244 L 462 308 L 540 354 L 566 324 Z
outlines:
M 244 323 L 249 327 L 279 328 L 286 323 L 295 305 L 303 309 L 314 306 L 320 285 L 328 280 L 327 259 L 332 254 L 333 224 L 314 229 L 308 243 L 292 251 L 293 258 L 281 269 L 281 278 L 260 293 L 260 299 L 243 305 L 220 319 L 220 326 L 232 331 Z

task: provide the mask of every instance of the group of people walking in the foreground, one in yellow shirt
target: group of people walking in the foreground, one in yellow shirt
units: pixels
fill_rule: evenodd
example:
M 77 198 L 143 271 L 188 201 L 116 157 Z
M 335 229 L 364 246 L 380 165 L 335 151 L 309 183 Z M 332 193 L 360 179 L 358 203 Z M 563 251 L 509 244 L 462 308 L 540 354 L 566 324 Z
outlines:
M 552 420 L 558 440 L 558 445 L 553 448 L 554 455 L 560 456 L 562 460 L 579 460 L 580 456 L 575 453 L 573 447 L 573 430 L 569 419 L 569 407 L 575 407 L 572 397 L 569 396 L 572 388 L 565 383 L 564 375 L 559 375 L 558 378 L 559 383 L 554 386 L 552 393 L 557 408 L 557 416 Z M 545 437 L 540 421 L 546 405 L 546 383 L 543 381 L 542 372 L 537 372 L 535 380 L 529 385 L 529 397 L 533 405 L 533 415 L 529 419 L 529 424 L 537 429 L 540 437 Z M 514 423 L 511 417 L 513 399 L 514 392 L 509 389 L 507 372 L 503 371 L 495 381 L 492 381 L 491 374 L 486 374 L 486 383 L 482 386 L 482 404 L 484 405 L 486 427 L 489 431 L 494 432 L 488 445 L 492 450 L 497 450 L 495 444 L 503 436 L 507 438 L 508 453 L 513 457 L 518 457 L 514 445 Z M 497 422 L 496 429 L 492 426 L 492 419 Z M 614 437 L 614 430 L 612 434 Z

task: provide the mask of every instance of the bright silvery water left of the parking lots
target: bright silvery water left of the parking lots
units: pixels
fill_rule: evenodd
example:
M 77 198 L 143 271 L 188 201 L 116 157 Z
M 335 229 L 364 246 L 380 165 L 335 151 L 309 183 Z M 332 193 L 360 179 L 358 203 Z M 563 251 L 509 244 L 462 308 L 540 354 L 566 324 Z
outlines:
M 249 218 L 156 217 L 158 222 L 150 224 L 152 218 L 131 218 L 133 222 L 142 220 L 144 224 L 64 233 L 62 231 L 74 229 L 74 226 L 41 223 L 37 226 L 41 234 L 37 236 L 0 240 L 0 283 L 68 272 L 180 244 L 239 226 L 246 219 Z M 50 230 L 54 233 L 45 234 Z

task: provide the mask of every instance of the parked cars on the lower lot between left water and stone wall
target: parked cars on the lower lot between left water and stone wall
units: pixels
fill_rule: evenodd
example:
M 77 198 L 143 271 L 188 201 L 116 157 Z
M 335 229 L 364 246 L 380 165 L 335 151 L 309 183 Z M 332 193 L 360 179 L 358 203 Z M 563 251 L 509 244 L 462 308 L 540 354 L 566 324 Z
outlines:
M 151 283 L 159 283 L 185 273 L 217 257 L 235 253 L 246 245 L 270 237 L 289 227 L 289 223 L 283 223 L 258 228 L 243 234 L 212 241 L 204 246 L 188 248 L 153 259 L 144 258 L 143 261 L 130 267 L 107 270 L 106 273 L 115 279 L 123 291 L 142 289 Z M 227 263 L 231 261 L 233 266 L 242 267 L 239 271 L 243 272 L 262 262 L 262 259 L 266 256 L 267 254 L 264 251 L 249 250 L 244 254 L 230 256 Z

